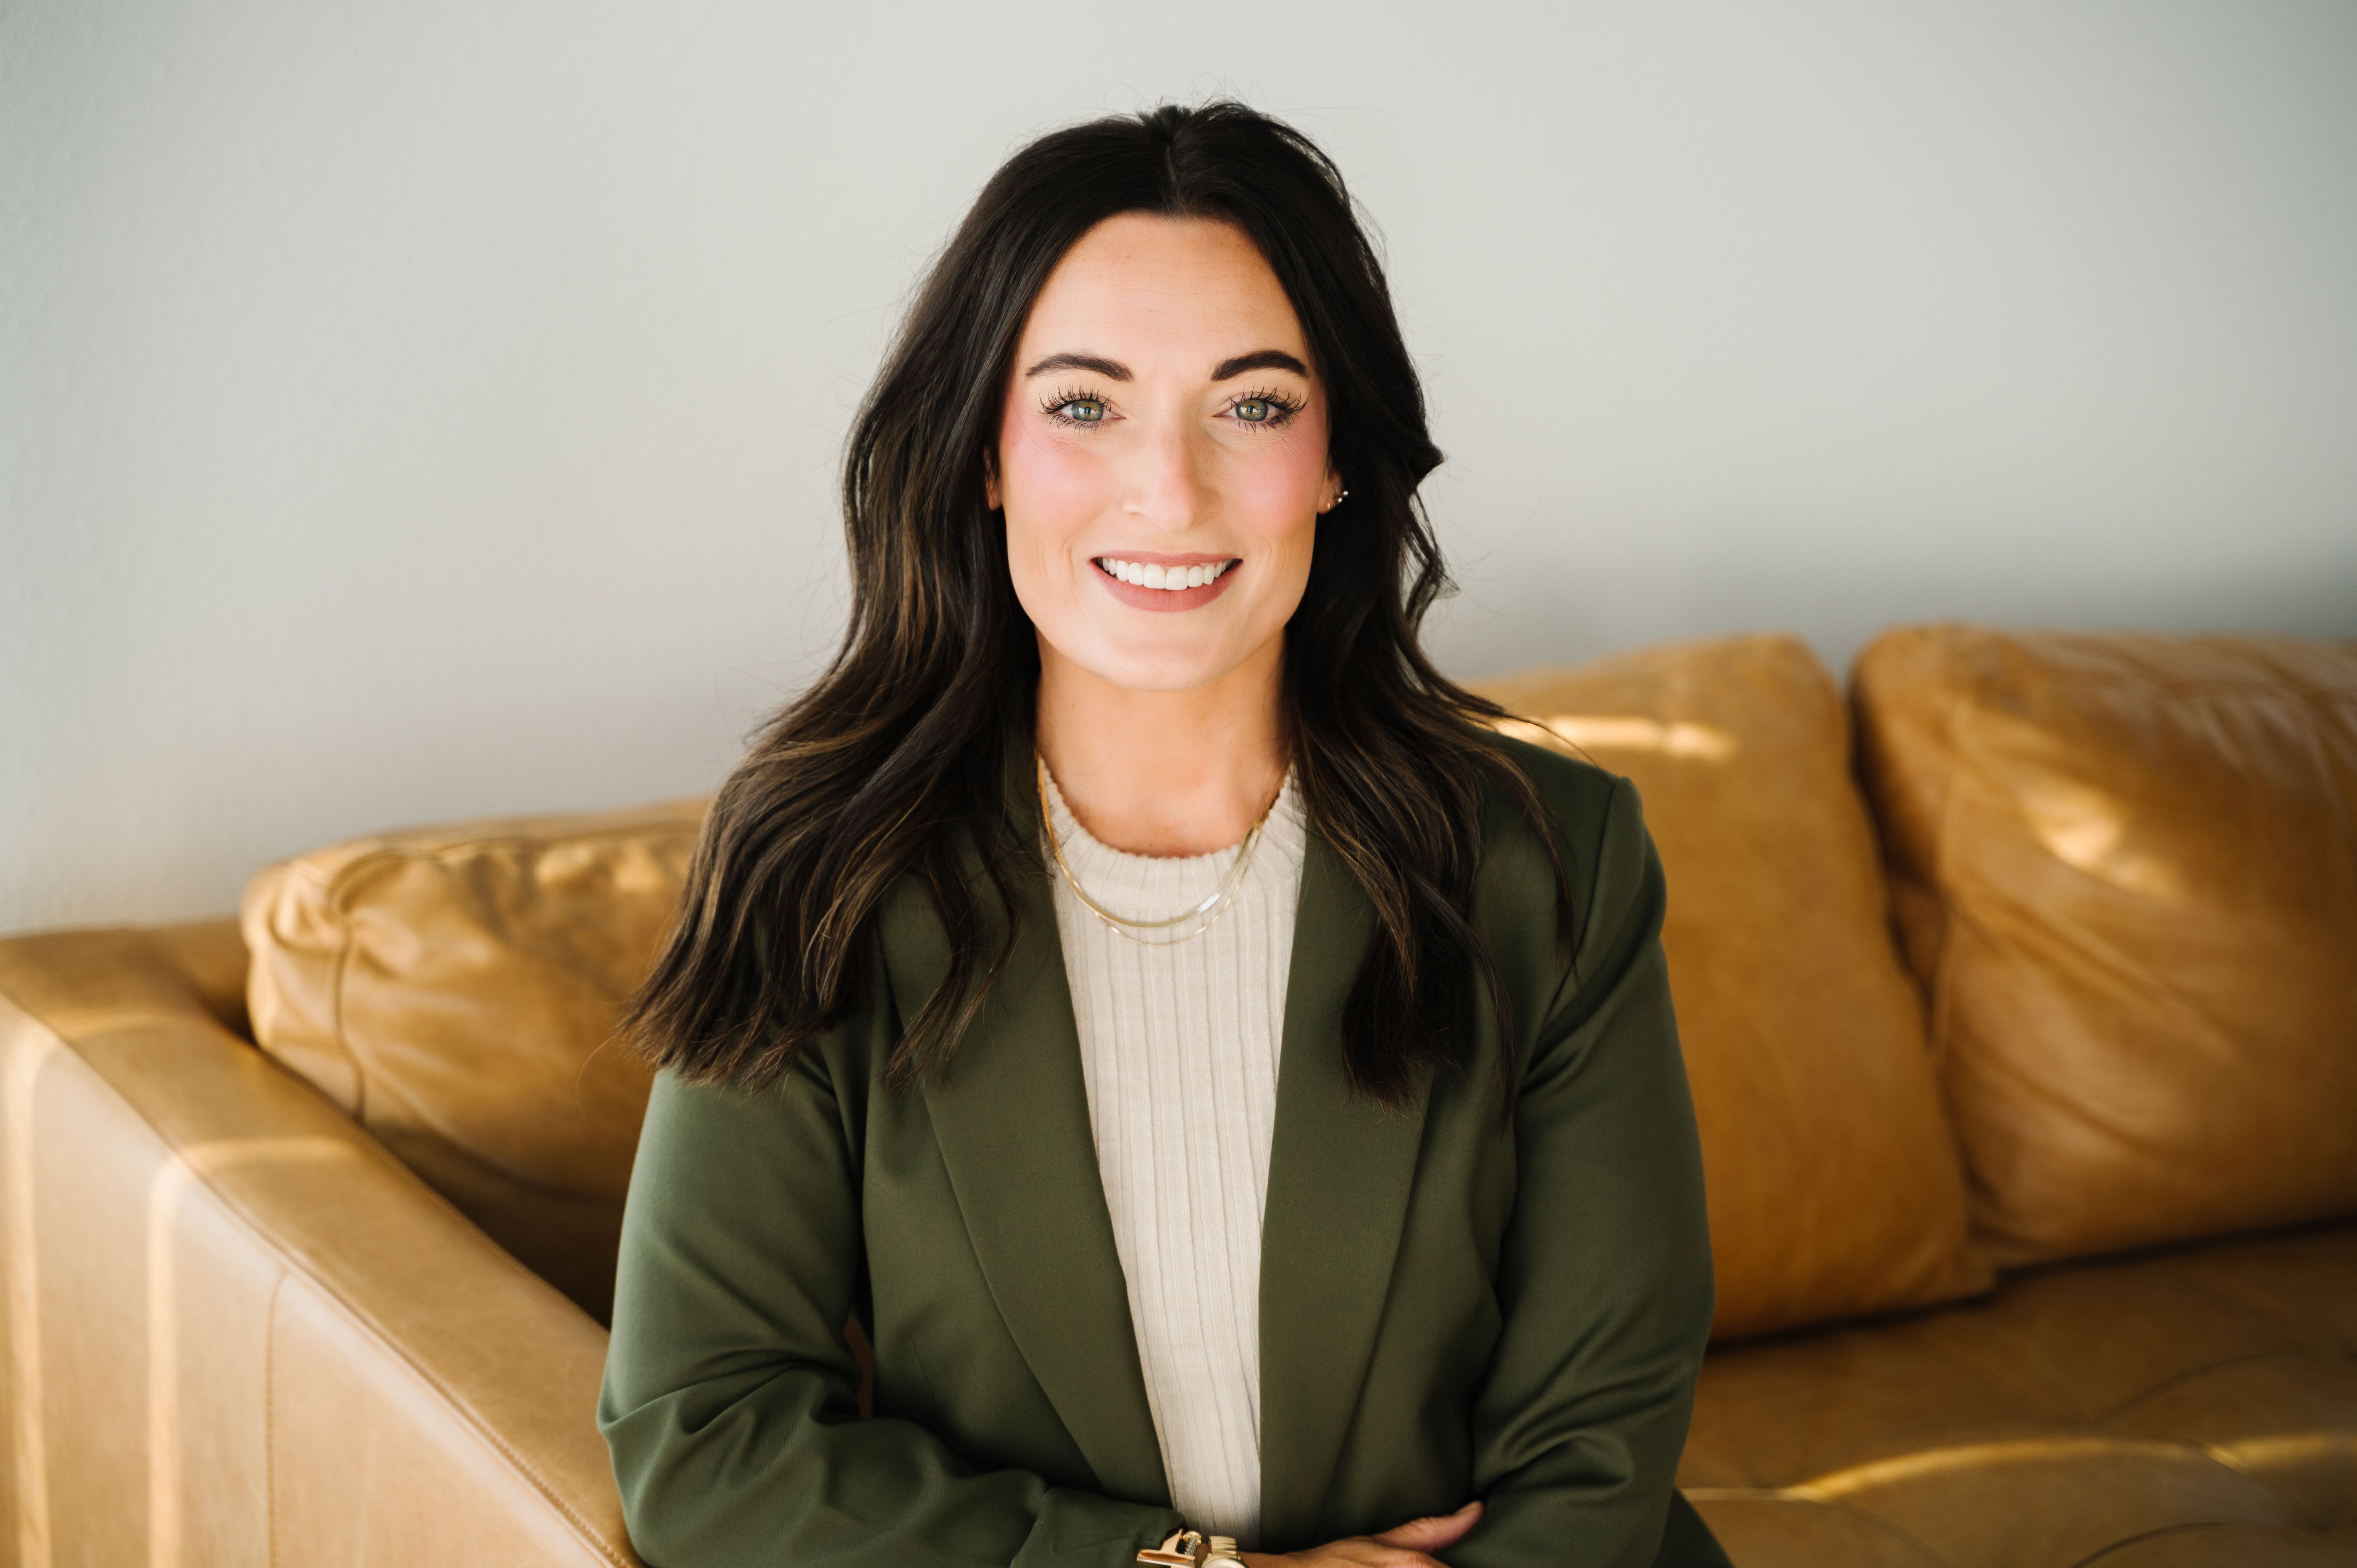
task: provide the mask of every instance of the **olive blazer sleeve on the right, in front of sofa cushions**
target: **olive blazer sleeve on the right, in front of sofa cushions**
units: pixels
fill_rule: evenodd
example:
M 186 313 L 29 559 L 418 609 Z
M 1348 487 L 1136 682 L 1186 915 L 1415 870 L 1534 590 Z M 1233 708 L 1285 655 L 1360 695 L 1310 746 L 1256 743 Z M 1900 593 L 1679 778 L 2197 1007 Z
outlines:
M 1504 1327 L 1454 1568 L 1725 1563 L 1671 1478 L 1711 1332 L 1702 1144 L 1662 957 L 1662 861 L 1617 780 L 1577 962 L 1530 1049 Z M 1666 1530 L 1666 1544 L 1664 1544 Z

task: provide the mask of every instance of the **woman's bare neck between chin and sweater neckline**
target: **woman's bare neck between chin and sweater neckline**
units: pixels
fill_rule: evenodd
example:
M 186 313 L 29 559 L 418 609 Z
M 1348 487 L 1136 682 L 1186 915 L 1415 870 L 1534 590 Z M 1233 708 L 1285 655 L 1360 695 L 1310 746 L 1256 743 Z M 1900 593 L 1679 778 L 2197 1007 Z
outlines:
M 1101 844 L 1200 856 L 1242 842 L 1285 785 L 1285 639 L 1190 691 L 1134 691 L 1039 644 L 1037 745 Z

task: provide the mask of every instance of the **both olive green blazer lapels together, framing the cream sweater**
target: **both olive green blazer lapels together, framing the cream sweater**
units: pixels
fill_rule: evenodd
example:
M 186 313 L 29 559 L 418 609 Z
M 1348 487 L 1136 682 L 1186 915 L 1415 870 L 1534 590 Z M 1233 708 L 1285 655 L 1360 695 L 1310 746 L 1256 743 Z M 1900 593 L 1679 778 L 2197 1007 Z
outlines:
M 1035 842 L 1039 795 L 1028 736 L 1006 745 L 1004 809 L 1018 842 Z M 971 849 L 966 868 L 995 941 L 1004 913 Z M 990 1294 L 1056 1415 L 1108 1495 L 1167 1507 L 1169 1478 L 1096 1172 L 1054 889 L 1037 858 L 1009 872 L 1014 953 L 948 1073 L 924 1085 L 926 1113 Z M 1261 1228 L 1261 1542 L 1268 1549 L 1318 1540 L 1424 1134 L 1424 1087 L 1407 1115 L 1386 1115 L 1346 1094 L 1341 1007 L 1372 929 L 1365 894 L 1313 828 Z M 948 936 L 917 877 L 903 877 L 879 936 L 905 1023 L 950 967 Z M 1186 1398 L 1183 1389 L 1171 1394 Z

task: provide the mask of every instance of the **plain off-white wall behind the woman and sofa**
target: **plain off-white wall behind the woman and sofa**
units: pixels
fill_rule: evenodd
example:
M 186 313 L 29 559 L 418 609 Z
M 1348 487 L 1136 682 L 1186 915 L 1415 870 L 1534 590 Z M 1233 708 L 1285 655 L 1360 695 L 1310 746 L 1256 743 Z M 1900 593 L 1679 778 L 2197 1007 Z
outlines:
M 1209 92 L 1388 236 L 1457 672 L 2357 632 L 2345 0 L 0 0 L 0 929 L 709 788 L 964 203 Z

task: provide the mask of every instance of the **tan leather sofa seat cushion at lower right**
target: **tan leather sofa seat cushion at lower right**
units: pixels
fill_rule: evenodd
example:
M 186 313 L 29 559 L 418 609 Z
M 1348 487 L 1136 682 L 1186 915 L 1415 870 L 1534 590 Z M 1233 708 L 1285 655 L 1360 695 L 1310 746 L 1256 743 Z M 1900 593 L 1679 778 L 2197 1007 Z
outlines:
M 1678 1485 L 1744 1568 L 2357 1561 L 2357 1224 L 1716 1349 Z

